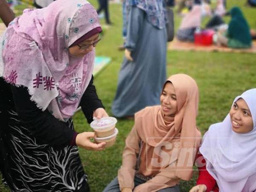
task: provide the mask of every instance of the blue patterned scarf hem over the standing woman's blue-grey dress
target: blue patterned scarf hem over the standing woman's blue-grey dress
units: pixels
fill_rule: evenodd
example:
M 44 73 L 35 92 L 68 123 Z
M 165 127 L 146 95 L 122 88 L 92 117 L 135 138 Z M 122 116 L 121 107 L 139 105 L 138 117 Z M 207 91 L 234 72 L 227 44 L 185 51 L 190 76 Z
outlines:
M 137 6 L 146 12 L 148 21 L 158 29 L 163 29 L 166 24 L 166 10 L 164 0 L 125 0 L 126 20 L 131 6 Z

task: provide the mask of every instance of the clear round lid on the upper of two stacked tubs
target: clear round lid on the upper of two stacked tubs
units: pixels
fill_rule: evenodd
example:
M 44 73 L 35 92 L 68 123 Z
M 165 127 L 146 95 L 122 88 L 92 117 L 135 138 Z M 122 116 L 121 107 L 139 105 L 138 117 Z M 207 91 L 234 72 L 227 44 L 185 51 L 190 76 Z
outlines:
M 111 116 L 105 116 L 105 117 L 102 117 L 101 119 L 95 119 L 93 122 L 90 123 L 90 126 L 94 130 L 105 129 L 105 128 L 110 128 L 115 126 L 116 122 L 117 122 L 116 118 Z

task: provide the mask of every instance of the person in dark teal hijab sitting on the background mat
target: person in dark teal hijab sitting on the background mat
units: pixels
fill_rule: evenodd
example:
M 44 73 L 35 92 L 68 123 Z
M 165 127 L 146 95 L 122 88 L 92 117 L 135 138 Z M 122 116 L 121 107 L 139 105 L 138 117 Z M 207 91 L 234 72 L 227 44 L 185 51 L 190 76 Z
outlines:
M 218 31 L 217 44 L 231 48 L 250 48 L 252 38 L 250 27 L 239 7 L 230 10 L 231 21 L 227 30 Z

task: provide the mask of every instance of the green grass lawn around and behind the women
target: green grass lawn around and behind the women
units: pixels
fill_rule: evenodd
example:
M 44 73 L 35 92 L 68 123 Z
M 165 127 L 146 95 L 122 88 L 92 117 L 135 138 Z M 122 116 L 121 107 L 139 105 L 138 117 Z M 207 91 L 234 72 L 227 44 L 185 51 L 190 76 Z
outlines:
M 91 2 L 97 7 L 96 0 Z M 228 0 L 228 8 L 240 6 L 251 28 L 256 29 L 256 9 L 245 7 L 245 0 Z M 24 6 L 20 6 L 22 9 Z M 21 11 L 18 10 L 19 14 Z M 123 52 L 117 47 L 122 44 L 122 6 L 110 5 L 111 20 L 114 25 L 105 29 L 104 37 L 96 48 L 96 55 L 111 57 L 111 64 L 95 78 L 97 93 L 111 116 L 111 104 L 116 92 L 119 68 Z M 254 18 L 254 19 L 253 19 Z M 229 17 L 225 18 L 229 20 Z M 204 23 L 207 20 L 204 20 Z M 102 20 L 104 23 L 104 20 Z M 179 26 L 180 17 L 175 15 L 175 26 Z M 209 125 L 222 121 L 227 115 L 233 99 L 244 90 L 256 87 L 256 56 L 254 54 L 220 52 L 178 52 L 168 51 L 167 73 L 186 73 L 198 83 L 200 90 L 199 114 L 197 125 L 204 133 Z M 74 116 L 76 131 L 91 131 L 81 111 Z M 119 135 L 116 145 L 105 151 L 87 151 L 80 149 L 84 170 L 89 175 L 91 192 L 102 192 L 104 187 L 116 177 L 122 162 L 122 149 L 125 137 L 133 126 L 132 120 L 119 120 Z M 189 182 L 181 182 L 182 192 L 188 192 L 195 184 L 195 176 Z M 6 192 L 3 185 L 0 191 Z

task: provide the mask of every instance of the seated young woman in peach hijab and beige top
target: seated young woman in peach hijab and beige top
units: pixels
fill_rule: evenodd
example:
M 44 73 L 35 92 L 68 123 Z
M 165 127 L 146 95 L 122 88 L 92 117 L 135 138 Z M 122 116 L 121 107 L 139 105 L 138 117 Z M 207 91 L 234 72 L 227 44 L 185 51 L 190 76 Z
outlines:
M 195 80 L 185 74 L 170 76 L 160 103 L 135 114 L 118 177 L 103 192 L 179 192 L 179 181 L 192 177 L 201 142 Z

